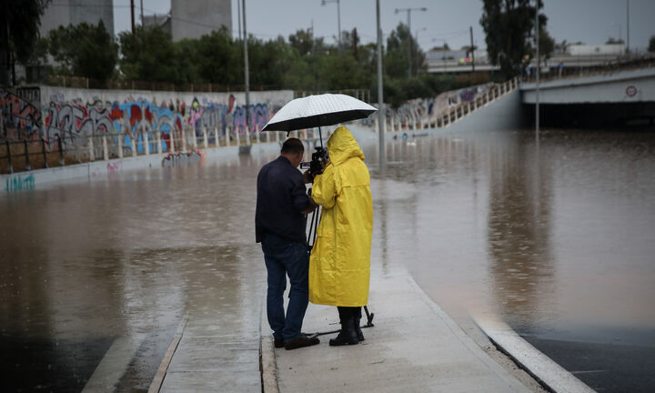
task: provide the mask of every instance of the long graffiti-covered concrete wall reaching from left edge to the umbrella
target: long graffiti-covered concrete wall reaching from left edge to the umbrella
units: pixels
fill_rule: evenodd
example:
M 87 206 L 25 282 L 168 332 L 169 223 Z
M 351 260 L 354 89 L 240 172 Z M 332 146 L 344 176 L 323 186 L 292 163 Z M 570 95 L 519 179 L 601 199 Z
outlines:
M 21 140 L 45 136 L 52 145 L 55 136 L 63 136 L 75 147 L 86 146 L 88 136 L 108 134 L 120 135 L 124 138 L 122 146 L 130 146 L 131 139 L 140 141 L 146 133 L 149 141 L 161 138 L 163 150 L 167 151 L 170 146 L 164 141 L 180 137 L 182 130 L 187 135 L 195 133 L 204 137 L 207 128 L 208 143 L 214 144 L 218 138 L 234 140 L 237 135 L 256 135 L 280 107 L 293 99 L 293 91 L 253 92 L 248 109 L 245 96 L 243 92 L 179 93 L 41 86 L 38 110 L 5 92 L 0 95 L 5 125 L 1 137 Z M 247 129 L 247 111 L 250 129 Z M 43 126 L 27 127 L 25 119 L 33 117 Z M 116 150 L 116 138 L 109 143 L 109 149 Z M 156 146 L 150 149 L 156 151 Z

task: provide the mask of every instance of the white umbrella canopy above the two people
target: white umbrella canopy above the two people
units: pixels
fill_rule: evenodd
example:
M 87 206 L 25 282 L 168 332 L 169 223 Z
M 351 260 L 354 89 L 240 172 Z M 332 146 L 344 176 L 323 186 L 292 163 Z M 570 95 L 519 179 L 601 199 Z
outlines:
M 332 126 L 366 118 L 377 111 L 364 101 L 342 94 L 296 98 L 277 111 L 262 131 L 293 131 L 315 126 Z

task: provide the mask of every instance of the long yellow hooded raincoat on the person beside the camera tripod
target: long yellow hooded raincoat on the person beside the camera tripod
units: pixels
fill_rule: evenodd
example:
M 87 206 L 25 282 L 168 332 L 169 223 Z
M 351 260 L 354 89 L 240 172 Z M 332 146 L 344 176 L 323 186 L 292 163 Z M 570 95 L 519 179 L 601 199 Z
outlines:
M 328 166 L 312 186 L 323 216 L 309 261 L 309 301 L 366 306 L 373 232 L 370 176 L 348 128 L 340 126 L 330 136 L 328 154 Z

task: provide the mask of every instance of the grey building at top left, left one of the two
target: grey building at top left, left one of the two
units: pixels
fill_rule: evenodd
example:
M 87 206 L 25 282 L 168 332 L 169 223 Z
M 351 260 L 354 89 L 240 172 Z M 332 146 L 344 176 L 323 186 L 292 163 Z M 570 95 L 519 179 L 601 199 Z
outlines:
M 79 25 L 82 22 L 97 25 L 99 21 L 103 21 L 106 31 L 114 36 L 114 0 L 94 0 L 90 3 L 83 0 L 48 3 L 41 16 L 41 36 L 46 36 L 60 25 Z

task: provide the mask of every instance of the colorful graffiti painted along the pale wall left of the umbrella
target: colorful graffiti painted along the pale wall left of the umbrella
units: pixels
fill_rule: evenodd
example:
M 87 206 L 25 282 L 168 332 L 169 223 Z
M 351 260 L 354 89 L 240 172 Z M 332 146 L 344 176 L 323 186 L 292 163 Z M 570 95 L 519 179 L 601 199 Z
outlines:
M 266 103 L 251 105 L 249 112 L 250 133 L 261 130 L 271 116 Z M 159 151 L 159 147 L 162 152 L 171 151 L 171 136 L 177 141 L 187 127 L 193 128 L 196 137 L 204 136 L 207 129 L 207 141 L 212 144 L 219 137 L 247 133 L 245 106 L 236 106 L 231 95 L 225 104 L 194 98 L 189 106 L 179 101 L 162 101 L 157 105 L 146 99 L 126 99 L 123 103 L 51 100 L 43 116 L 44 136 L 51 147 L 57 143 L 56 136 L 64 138 L 65 143 L 86 146 L 89 136 L 111 134 L 110 149 L 116 150 L 120 138 L 124 154 L 130 154 L 132 146 L 144 153 L 146 137 L 150 152 Z

